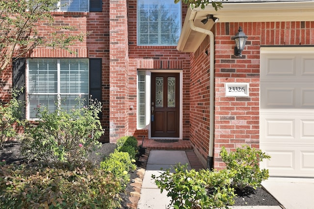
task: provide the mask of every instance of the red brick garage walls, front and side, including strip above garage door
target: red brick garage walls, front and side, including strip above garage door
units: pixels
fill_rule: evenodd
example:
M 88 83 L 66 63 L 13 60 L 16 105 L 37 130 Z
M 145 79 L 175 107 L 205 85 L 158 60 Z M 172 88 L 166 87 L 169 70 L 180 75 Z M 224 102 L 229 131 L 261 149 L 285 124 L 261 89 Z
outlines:
M 234 56 L 239 26 L 248 36 L 241 58 Z M 260 47 L 314 44 L 313 22 L 216 23 L 214 167 L 224 167 L 222 146 L 234 150 L 242 144 L 259 148 Z M 191 140 L 205 162 L 209 152 L 209 47 L 205 39 L 191 55 Z M 249 83 L 249 97 L 225 96 L 228 82 Z M 206 86 L 207 85 L 207 86 Z

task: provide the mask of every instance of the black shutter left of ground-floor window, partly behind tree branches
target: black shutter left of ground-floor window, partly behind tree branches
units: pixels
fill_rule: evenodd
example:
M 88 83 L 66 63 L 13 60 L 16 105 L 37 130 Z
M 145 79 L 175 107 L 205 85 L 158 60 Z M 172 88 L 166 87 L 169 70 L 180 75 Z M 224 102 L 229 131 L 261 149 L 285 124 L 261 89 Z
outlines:
M 25 69 L 26 69 L 26 58 L 18 58 L 13 61 L 13 88 L 20 90 L 24 88 L 23 93 L 18 96 L 18 100 L 25 102 Z M 25 105 L 23 106 L 21 112 L 23 118 L 26 117 Z

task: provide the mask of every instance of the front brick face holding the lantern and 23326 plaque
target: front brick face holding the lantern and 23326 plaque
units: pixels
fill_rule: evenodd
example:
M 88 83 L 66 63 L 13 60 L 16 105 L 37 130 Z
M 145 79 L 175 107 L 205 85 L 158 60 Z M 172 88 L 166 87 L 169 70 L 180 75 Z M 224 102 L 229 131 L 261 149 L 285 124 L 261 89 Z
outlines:
M 239 26 L 249 37 L 241 58 L 234 56 Z M 220 23 L 215 34 L 215 133 L 214 167 L 224 166 L 219 158 L 222 146 L 235 149 L 242 144 L 259 148 L 260 23 Z M 256 28 L 256 29 L 252 29 Z M 225 96 L 228 82 L 249 83 L 249 97 Z

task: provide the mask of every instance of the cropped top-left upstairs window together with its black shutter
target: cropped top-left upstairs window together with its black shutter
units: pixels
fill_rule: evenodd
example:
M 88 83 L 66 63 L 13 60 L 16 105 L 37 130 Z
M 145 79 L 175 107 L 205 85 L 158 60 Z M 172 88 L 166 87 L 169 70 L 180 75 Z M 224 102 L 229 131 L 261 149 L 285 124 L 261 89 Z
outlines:
M 102 0 L 59 0 L 61 12 L 101 12 Z

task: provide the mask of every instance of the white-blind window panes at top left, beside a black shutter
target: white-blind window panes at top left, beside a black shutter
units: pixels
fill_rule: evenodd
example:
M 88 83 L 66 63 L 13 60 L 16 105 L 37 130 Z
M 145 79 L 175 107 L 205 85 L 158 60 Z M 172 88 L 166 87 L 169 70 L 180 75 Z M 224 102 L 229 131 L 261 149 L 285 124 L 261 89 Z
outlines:
M 88 12 L 89 0 L 60 0 L 62 12 Z

